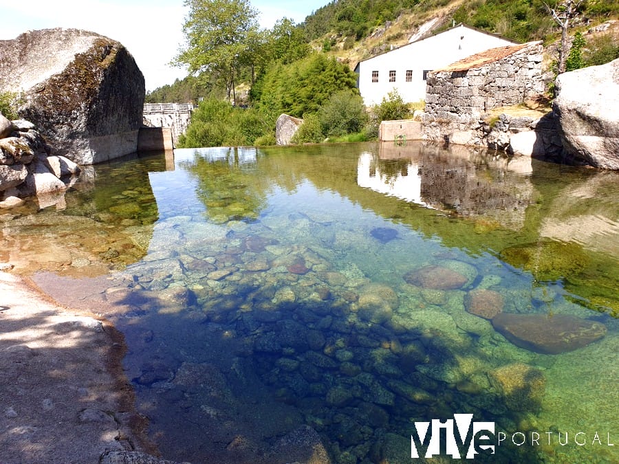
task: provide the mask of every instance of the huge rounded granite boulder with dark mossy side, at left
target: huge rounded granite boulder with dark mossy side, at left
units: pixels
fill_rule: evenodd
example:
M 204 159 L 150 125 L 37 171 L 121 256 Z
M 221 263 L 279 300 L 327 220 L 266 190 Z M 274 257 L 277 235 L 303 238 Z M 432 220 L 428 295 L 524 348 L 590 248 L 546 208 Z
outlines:
M 144 76 L 110 38 L 46 29 L 0 41 L 0 91 L 21 92 L 21 118 L 54 155 L 95 164 L 136 151 Z

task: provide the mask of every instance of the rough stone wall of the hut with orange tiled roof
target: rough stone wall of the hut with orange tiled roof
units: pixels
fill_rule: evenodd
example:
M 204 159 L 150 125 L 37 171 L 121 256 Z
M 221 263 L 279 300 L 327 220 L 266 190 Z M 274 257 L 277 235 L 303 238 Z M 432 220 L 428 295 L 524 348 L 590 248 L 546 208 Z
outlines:
M 492 60 L 492 51 L 499 58 Z M 424 138 L 483 145 L 477 129 L 484 113 L 545 93 L 541 43 L 492 51 L 485 60 L 474 55 L 428 75 Z

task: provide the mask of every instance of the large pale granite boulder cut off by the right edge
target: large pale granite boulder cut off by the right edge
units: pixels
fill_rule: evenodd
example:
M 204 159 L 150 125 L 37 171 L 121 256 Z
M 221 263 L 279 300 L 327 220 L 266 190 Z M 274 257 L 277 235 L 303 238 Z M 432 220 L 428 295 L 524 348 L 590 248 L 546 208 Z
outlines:
M 565 151 L 591 166 L 619 169 L 619 59 L 563 73 L 555 88 Z

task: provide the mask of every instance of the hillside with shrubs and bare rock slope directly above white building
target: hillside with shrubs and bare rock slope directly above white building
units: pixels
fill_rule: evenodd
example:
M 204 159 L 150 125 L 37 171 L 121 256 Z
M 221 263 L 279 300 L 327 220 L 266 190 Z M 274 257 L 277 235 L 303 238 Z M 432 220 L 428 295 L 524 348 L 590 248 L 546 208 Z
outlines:
M 549 3 L 553 3 L 552 1 Z M 619 1 L 591 0 L 572 21 L 572 34 L 619 18 Z M 336 0 L 300 25 L 314 49 L 351 67 L 359 61 L 464 23 L 514 41 L 558 40 L 559 30 L 541 0 Z M 593 31 L 596 32 L 596 31 Z M 609 41 L 618 47 L 611 27 Z M 597 34 L 599 35 L 599 33 Z

